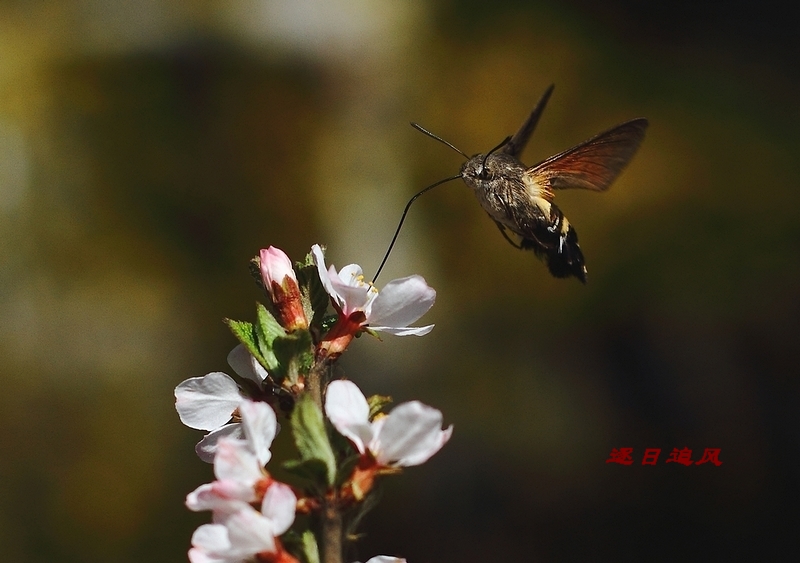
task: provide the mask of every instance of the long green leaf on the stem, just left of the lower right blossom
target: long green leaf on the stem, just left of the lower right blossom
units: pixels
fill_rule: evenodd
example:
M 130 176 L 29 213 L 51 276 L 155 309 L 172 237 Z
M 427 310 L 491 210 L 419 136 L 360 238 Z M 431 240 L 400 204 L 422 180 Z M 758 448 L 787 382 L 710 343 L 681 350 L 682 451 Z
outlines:
M 309 395 L 302 395 L 295 404 L 291 418 L 292 434 L 303 462 L 318 460 L 324 465 L 325 486 L 336 479 L 336 456 L 333 454 L 322 411 Z

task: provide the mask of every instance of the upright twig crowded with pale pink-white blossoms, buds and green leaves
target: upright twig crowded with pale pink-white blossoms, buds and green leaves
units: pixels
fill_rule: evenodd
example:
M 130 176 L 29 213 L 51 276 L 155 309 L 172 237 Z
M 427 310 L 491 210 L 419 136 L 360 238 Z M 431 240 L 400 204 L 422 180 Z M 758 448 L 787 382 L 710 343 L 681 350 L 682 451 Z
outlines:
M 410 325 L 436 292 L 420 276 L 379 291 L 356 264 L 326 269 L 317 245 L 296 265 L 274 247 L 253 263 L 269 300 L 258 306 L 256 322 L 227 321 L 240 341 L 228 355 L 232 374 L 212 372 L 175 389 L 181 421 L 207 432 L 196 451 L 213 463 L 215 477 L 186 498 L 189 509 L 211 511 L 212 519 L 192 536 L 189 559 L 341 563 L 350 537 L 344 520 L 360 518 L 380 476 L 439 451 L 452 426 L 443 430 L 442 413 L 418 401 L 383 414 L 387 398 L 367 398 L 349 380 L 330 381 L 330 366 L 361 333 L 430 332 L 433 325 Z M 298 459 L 283 464 L 298 479 L 294 486 L 266 470 L 279 414 L 297 448 Z M 299 513 L 319 525 L 302 529 L 308 523 L 295 521 Z M 382 555 L 367 563 L 404 562 Z

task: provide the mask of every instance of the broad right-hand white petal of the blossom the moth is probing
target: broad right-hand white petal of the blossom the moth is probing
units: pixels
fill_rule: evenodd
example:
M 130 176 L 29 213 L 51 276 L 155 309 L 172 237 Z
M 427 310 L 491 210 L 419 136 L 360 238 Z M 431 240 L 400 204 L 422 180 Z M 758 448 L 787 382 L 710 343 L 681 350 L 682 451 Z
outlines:
M 436 290 L 422 276 L 392 280 L 372 304 L 367 322 L 383 327 L 407 327 L 428 312 L 436 301 Z

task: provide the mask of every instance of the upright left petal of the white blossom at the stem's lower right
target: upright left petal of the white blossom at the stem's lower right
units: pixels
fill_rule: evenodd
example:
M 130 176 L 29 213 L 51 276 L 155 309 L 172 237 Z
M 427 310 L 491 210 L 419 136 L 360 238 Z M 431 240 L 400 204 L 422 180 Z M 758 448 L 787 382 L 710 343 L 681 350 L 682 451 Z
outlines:
M 325 392 L 325 413 L 339 433 L 348 438 L 362 454 L 372 439 L 369 404 L 352 381 L 337 380 Z

